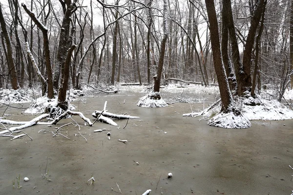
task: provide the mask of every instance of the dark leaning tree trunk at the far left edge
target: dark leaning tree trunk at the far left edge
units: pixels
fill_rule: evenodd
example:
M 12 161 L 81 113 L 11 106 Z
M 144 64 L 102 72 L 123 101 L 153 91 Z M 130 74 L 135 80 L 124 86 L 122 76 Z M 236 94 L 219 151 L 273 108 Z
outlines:
M 19 88 L 19 83 L 17 79 L 16 67 L 14 63 L 14 56 L 12 51 L 11 39 L 7 32 L 6 23 L 2 14 L 2 4 L 0 3 L 0 25 L 1 25 L 1 34 L 3 34 L 6 41 L 7 49 L 7 65 L 8 65 L 8 74 L 10 75 L 11 86 L 14 90 Z

